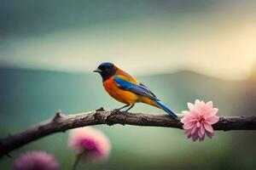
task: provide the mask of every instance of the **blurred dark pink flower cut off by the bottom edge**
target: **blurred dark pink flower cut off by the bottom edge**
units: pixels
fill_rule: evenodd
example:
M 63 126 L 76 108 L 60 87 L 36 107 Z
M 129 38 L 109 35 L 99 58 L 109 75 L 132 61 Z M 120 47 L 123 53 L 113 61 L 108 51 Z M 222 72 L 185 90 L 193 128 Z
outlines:
M 55 157 L 44 151 L 31 151 L 21 154 L 14 163 L 14 170 L 57 170 Z

